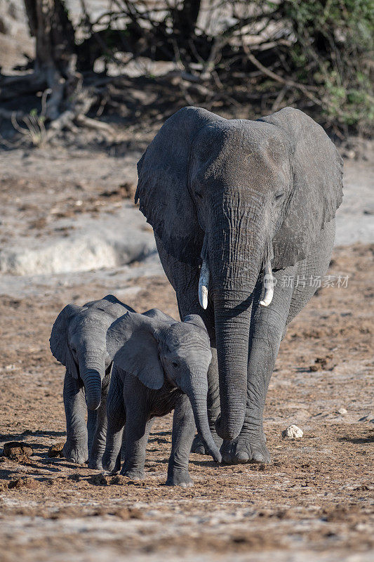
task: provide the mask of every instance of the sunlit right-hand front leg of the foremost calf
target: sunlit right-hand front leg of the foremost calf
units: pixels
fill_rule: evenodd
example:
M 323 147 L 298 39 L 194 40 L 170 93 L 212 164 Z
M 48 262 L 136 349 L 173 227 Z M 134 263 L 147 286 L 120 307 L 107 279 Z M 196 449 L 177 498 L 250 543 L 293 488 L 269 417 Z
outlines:
M 195 421 L 192 406 L 189 398 L 182 394 L 178 398 L 174 410 L 171 456 L 166 485 L 184 488 L 193 485 L 188 473 L 188 462 L 194 433 Z

